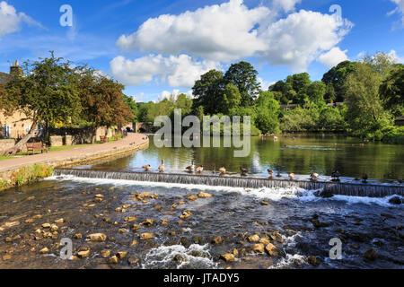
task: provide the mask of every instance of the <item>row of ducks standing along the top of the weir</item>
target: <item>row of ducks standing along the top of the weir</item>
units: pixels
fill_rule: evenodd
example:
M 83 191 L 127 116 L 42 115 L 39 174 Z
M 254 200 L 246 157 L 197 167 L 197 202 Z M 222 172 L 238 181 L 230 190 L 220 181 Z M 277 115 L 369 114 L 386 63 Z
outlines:
M 152 167 L 151 167 L 149 164 L 143 166 L 142 168 L 143 168 L 145 171 L 150 171 L 150 170 L 152 169 Z M 159 172 L 164 172 L 164 169 L 165 169 L 165 167 L 164 167 L 164 161 L 162 161 L 162 164 L 158 167 L 158 170 L 159 170 Z M 203 166 L 196 166 L 196 165 L 194 164 L 194 161 L 192 161 L 192 164 L 189 165 L 188 167 L 186 167 L 186 168 L 185 168 L 185 171 L 187 171 L 187 172 L 189 172 L 189 173 L 197 172 L 198 174 L 201 174 L 201 173 L 204 171 L 204 167 L 203 167 Z M 223 175 L 226 174 L 226 169 L 225 169 L 224 167 L 221 167 L 218 171 L 219 171 L 219 173 L 220 173 L 221 176 L 223 176 Z M 274 171 L 274 170 L 267 170 L 267 171 L 268 171 L 268 174 L 269 174 L 269 178 L 271 178 L 271 179 L 274 178 L 275 171 Z M 213 173 L 215 173 L 215 170 L 213 170 Z M 248 175 L 248 170 L 241 167 L 241 168 L 240 168 L 240 174 L 242 175 L 242 177 L 246 177 L 246 176 Z M 277 171 L 277 176 L 276 176 L 276 177 L 277 177 L 277 178 L 281 178 L 281 177 L 282 177 L 282 175 L 280 174 L 280 171 L 279 171 L 279 170 Z M 293 172 L 292 172 L 292 173 L 288 173 L 288 177 L 289 177 L 290 180 L 294 180 L 295 175 L 294 175 Z M 334 171 L 334 172 L 331 173 L 331 181 L 333 181 L 333 182 L 339 182 L 339 181 L 340 181 L 340 179 L 339 179 L 340 177 L 341 177 L 341 174 L 339 173 L 338 170 L 336 170 L 336 171 Z M 316 172 L 312 172 L 312 173 L 310 174 L 310 179 L 311 179 L 312 181 L 317 181 L 317 180 L 319 180 L 319 178 L 320 178 L 320 176 L 319 176 L 319 174 L 316 173 Z M 368 179 L 368 178 L 369 178 L 369 177 L 367 176 L 367 174 L 363 174 L 363 175 L 362 175 L 362 182 L 363 182 L 363 183 L 367 183 L 367 179 Z M 355 178 L 355 181 L 359 181 L 359 180 L 360 180 L 359 178 Z M 399 182 L 402 183 L 402 179 L 400 179 Z

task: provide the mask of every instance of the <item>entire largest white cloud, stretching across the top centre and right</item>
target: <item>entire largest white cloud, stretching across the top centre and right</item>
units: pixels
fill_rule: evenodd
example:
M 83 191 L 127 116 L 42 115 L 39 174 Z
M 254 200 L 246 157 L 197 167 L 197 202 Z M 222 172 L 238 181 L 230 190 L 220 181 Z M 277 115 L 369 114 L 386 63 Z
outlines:
M 335 48 L 352 28 L 335 14 L 301 10 L 278 19 L 277 10 L 294 11 L 299 0 L 273 2 L 273 10 L 249 9 L 242 0 L 200 8 L 180 15 L 147 20 L 131 35 L 117 41 L 126 51 L 162 55 L 188 54 L 229 63 L 259 57 L 261 63 L 288 65 L 305 71 L 315 59 Z

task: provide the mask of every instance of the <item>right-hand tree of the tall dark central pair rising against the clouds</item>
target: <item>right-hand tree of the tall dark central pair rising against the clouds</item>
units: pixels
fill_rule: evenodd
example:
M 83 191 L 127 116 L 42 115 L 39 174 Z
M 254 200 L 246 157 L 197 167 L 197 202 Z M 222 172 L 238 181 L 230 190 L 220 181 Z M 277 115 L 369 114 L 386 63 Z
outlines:
M 224 83 L 233 83 L 242 95 L 242 107 L 248 107 L 259 95 L 261 89 L 257 80 L 258 72 L 248 62 L 240 62 L 230 66 L 224 74 Z

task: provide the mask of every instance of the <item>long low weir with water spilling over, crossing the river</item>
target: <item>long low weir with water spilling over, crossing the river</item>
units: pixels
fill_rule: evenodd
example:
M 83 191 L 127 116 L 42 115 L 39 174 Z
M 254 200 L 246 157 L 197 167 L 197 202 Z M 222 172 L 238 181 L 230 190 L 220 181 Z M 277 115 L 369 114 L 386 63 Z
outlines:
M 404 196 L 404 186 L 382 184 L 356 184 L 326 181 L 288 180 L 271 178 L 241 178 L 233 176 L 174 174 L 153 172 L 126 172 L 80 169 L 56 169 L 54 176 L 75 176 L 77 178 L 124 179 L 135 181 L 178 183 L 186 185 L 206 185 L 215 187 L 244 188 L 303 188 L 323 190 L 334 195 L 384 197 Z

